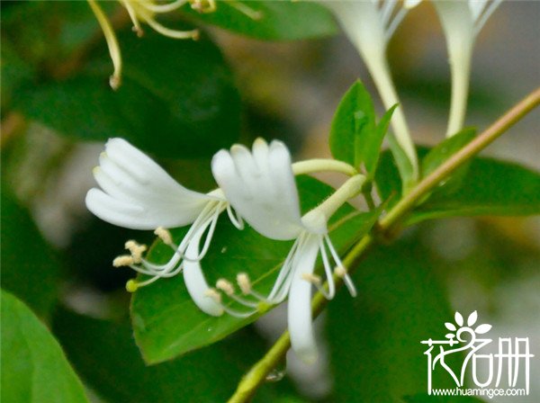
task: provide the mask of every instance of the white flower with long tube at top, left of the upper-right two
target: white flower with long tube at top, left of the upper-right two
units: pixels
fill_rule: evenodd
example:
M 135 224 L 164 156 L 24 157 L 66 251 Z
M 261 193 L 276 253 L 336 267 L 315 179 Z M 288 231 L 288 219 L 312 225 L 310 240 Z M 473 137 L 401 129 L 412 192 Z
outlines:
M 400 103 L 388 66 L 386 49 L 392 34 L 410 7 L 418 4 L 418 0 L 410 0 L 404 4 L 406 6 L 397 0 L 320 0 L 319 3 L 335 14 L 347 37 L 364 59 L 384 107 L 390 109 Z M 393 113 L 392 128 L 398 144 L 410 160 L 412 180 L 415 181 L 419 175 L 418 157 L 401 107 Z

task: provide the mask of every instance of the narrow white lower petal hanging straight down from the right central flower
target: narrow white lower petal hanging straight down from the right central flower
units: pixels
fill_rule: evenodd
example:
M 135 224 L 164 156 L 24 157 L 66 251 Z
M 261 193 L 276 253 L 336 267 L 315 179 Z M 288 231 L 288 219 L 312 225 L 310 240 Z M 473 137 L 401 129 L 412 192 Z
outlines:
M 288 326 L 294 353 L 305 363 L 315 363 L 318 353 L 311 323 L 311 282 L 306 281 L 305 276 L 313 274 L 319 237 L 309 236 L 300 254 L 289 292 Z

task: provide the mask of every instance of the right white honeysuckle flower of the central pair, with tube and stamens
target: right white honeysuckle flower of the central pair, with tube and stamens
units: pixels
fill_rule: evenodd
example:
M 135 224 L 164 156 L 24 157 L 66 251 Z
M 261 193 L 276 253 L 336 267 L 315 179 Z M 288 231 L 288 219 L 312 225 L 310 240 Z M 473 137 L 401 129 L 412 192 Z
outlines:
M 216 284 L 218 290 L 248 307 L 247 312 L 223 305 L 217 291 L 209 292 L 209 297 L 229 314 L 247 317 L 257 312 L 260 302 L 277 304 L 289 296 L 293 350 L 303 361 L 314 362 L 317 348 L 311 328 L 311 286 L 315 285 L 331 299 L 336 288 L 333 273 L 337 273 L 345 280 L 351 294 L 356 295 L 354 284 L 329 239 L 327 222 L 339 206 L 360 191 L 365 177 L 353 176 L 337 193 L 302 217 L 291 155 L 281 141 L 274 140 L 268 146 L 265 140 L 257 139 L 251 152 L 238 145 L 230 152 L 221 150 L 212 158 L 211 169 L 227 200 L 257 232 L 276 240 L 295 241 L 266 297 L 251 290 L 246 274 L 238 275 L 238 286 L 242 294 L 253 297 L 252 300 L 238 297 L 229 282 Z M 329 282 L 328 291 L 322 288 L 320 277 L 313 273 L 319 254 Z

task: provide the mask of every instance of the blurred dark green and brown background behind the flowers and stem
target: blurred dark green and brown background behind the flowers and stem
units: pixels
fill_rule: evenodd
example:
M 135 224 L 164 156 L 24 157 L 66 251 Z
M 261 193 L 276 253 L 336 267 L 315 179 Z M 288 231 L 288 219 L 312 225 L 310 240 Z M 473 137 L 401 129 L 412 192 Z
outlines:
M 123 288 L 132 274 L 111 262 L 126 239 L 152 236 L 85 210 L 91 169 L 109 137 L 130 139 L 200 191 L 213 186 L 211 155 L 236 141 L 284 139 L 297 158 L 329 157 L 329 124 L 347 88 L 360 77 L 378 100 L 356 50 L 330 29 L 306 35 L 322 38 L 257 40 L 203 24 L 196 42 L 151 30 L 139 39 L 125 10 L 108 2 L 125 64 L 114 93 L 103 33 L 85 2 L 1 6 L 3 289 L 52 330 L 93 401 L 224 401 L 284 330 L 284 309 L 217 345 L 145 367 Z M 170 24 L 191 26 L 188 14 Z M 467 124 L 482 130 L 540 83 L 538 21 L 540 4 L 523 1 L 502 4 L 487 23 L 474 53 Z M 408 15 L 389 58 L 415 140 L 436 144 L 446 128 L 450 82 L 430 4 Z M 486 154 L 537 171 L 539 128 L 534 112 Z M 423 392 L 419 341 L 442 332 L 454 310 L 478 310 L 493 337 L 529 337 L 537 380 L 539 268 L 537 217 L 410 228 L 356 271 L 359 297 L 340 292 L 317 321 L 324 359 L 306 367 L 289 354 L 287 376 L 269 382 L 257 401 L 391 401 Z M 540 400 L 537 382 L 528 399 L 511 401 Z

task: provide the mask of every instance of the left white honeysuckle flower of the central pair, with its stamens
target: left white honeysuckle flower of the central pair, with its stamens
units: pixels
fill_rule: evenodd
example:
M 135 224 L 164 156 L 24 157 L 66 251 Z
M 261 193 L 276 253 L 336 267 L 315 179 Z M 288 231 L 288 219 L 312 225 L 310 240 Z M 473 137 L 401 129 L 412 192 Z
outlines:
M 94 168 L 101 189 L 86 194 L 86 207 L 94 215 L 114 225 L 131 229 L 155 229 L 155 233 L 175 251 L 166 264 L 154 264 L 142 257 L 146 246 L 126 242 L 130 255 L 114 259 L 114 266 L 130 266 L 148 280 L 126 284 L 128 291 L 170 278 L 184 271 L 186 287 L 195 303 L 206 313 L 219 315 L 220 307 L 204 297 L 209 289 L 199 261 L 208 251 L 220 213 L 227 210 L 229 219 L 242 228 L 220 189 L 197 193 L 178 184 L 165 170 L 124 139 L 110 139 Z M 179 245 L 165 228 L 191 225 Z M 206 235 L 205 235 L 206 234 Z M 202 242 L 202 237 L 205 236 Z M 202 248 L 200 247 L 202 244 Z

